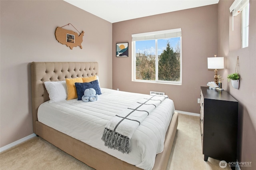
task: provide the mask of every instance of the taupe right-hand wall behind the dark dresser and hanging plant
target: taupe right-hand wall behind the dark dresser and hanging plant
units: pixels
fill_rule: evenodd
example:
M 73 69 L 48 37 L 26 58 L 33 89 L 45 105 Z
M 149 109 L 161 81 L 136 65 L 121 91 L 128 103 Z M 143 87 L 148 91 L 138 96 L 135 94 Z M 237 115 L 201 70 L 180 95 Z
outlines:
M 221 74 L 226 77 L 234 73 L 236 59 L 239 56 L 241 76 L 239 89 L 234 89 L 231 82 L 228 83 L 226 80 L 223 81 L 223 87 L 239 102 L 238 162 L 252 162 L 251 166 L 240 168 L 254 170 L 256 169 L 256 1 L 250 0 L 249 46 L 243 49 L 234 49 L 236 45 L 230 43 L 230 40 L 234 39 L 234 32 L 238 32 L 239 35 L 240 30 L 238 26 L 234 27 L 234 32 L 232 31 L 230 22 L 232 14 L 228 10 L 232 3 L 233 0 L 220 0 L 218 3 L 218 49 L 219 55 L 226 59 L 226 69 L 221 71 Z

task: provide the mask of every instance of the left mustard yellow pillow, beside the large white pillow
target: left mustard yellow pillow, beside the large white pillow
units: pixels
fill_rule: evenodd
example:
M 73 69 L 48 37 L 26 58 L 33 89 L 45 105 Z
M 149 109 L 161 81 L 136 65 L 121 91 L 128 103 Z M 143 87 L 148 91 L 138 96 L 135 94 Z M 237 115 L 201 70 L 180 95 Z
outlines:
M 66 85 L 67 85 L 67 100 L 70 99 L 76 99 L 77 93 L 76 93 L 76 86 L 75 83 L 83 83 L 83 80 L 81 77 L 74 78 L 74 79 L 66 79 Z

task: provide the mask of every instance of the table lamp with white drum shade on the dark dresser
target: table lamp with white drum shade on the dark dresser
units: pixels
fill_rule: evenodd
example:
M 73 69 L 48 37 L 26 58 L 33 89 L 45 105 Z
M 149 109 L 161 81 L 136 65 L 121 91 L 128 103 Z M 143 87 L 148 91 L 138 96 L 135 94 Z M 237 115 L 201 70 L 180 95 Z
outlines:
M 208 69 L 214 69 L 214 82 L 218 85 L 218 69 L 224 69 L 224 57 L 208 57 Z

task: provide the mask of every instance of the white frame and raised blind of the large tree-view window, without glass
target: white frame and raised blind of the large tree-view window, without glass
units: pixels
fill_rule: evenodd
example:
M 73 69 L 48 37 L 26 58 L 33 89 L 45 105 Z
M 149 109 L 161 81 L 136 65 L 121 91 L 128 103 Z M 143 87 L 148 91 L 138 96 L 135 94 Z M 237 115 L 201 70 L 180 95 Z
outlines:
M 158 40 L 164 38 L 176 38 L 180 37 L 180 81 L 162 81 L 158 80 L 158 50 L 157 41 L 155 43 L 156 49 L 156 80 L 139 80 L 136 79 L 136 41 L 140 40 Z M 162 84 L 174 84 L 182 85 L 182 36 L 181 28 L 172 30 L 162 30 L 156 32 L 146 32 L 140 34 L 132 34 L 132 81 L 146 82 L 146 83 L 162 83 Z

